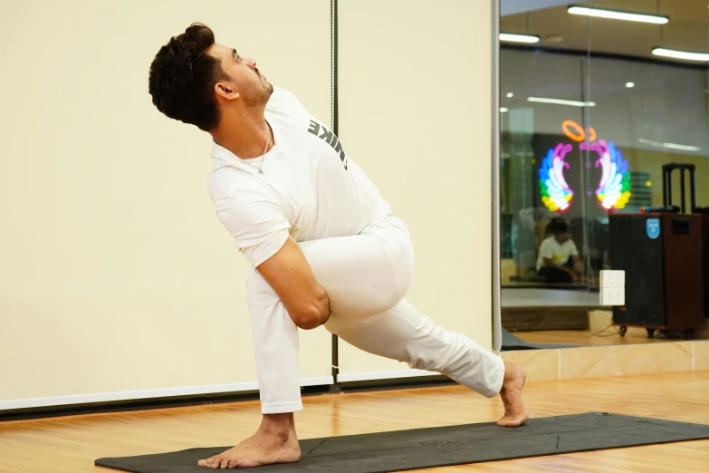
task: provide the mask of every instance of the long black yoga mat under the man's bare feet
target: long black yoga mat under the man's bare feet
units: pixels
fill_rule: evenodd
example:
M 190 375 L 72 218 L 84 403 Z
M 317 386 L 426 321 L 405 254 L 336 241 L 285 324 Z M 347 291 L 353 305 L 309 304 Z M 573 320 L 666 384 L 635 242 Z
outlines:
M 301 440 L 298 463 L 242 469 L 384 473 L 699 439 L 709 439 L 709 426 L 591 412 L 532 419 L 516 429 L 491 422 L 307 439 Z M 225 449 L 228 447 L 98 459 L 96 465 L 134 473 L 196 473 L 209 469 L 197 467 L 198 459 Z

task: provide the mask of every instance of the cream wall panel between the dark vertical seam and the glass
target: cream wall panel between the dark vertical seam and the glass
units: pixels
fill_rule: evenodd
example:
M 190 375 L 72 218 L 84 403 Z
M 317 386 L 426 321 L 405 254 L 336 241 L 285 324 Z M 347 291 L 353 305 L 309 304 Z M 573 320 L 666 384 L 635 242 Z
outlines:
M 340 0 L 340 139 L 407 221 L 408 299 L 492 347 L 490 2 Z M 340 372 L 405 370 L 340 341 Z

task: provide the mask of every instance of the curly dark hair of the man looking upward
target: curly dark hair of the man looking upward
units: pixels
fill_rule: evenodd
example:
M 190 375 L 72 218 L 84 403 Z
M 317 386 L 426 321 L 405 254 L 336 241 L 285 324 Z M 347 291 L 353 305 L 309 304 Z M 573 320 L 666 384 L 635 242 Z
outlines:
M 214 32 L 194 23 L 170 38 L 150 64 L 149 92 L 158 111 L 205 131 L 219 124 L 214 86 L 227 78 L 219 61 L 206 53 L 214 43 Z

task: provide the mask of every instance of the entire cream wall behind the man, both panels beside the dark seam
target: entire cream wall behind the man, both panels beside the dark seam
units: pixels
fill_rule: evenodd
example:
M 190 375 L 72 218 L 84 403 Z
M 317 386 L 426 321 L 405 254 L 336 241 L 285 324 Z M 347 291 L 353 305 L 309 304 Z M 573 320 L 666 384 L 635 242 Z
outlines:
M 409 299 L 490 347 L 490 11 L 469 4 L 340 1 L 340 138 L 411 228 Z M 330 2 L 0 8 L 0 409 L 256 381 L 209 137 L 155 110 L 149 64 L 200 21 L 330 121 Z M 343 372 L 406 368 L 340 347 Z M 302 378 L 330 353 L 302 333 Z

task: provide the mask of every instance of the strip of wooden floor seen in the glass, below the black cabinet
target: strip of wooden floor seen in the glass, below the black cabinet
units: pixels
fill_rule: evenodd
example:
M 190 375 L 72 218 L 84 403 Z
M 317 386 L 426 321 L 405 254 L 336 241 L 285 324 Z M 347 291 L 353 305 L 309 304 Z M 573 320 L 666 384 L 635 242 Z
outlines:
M 708 332 L 697 333 L 694 340 L 706 340 Z M 681 339 L 662 339 L 655 335 L 654 338 L 647 337 L 647 331 L 644 328 L 629 327 L 626 336 L 621 337 L 618 334 L 617 327 L 610 327 L 602 333 L 596 334 L 589 330 L 558 330 L 558 331 L 543 331 L 543 332 L 515 332 L 517 338 L 531 343 L 568 343 L 571 345 L 580 346 L 596 346 L 596 345 L 622 345 L 633 343 L 665 343 L 677 342 Z

